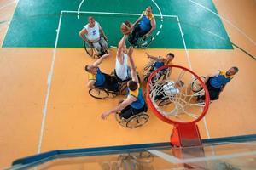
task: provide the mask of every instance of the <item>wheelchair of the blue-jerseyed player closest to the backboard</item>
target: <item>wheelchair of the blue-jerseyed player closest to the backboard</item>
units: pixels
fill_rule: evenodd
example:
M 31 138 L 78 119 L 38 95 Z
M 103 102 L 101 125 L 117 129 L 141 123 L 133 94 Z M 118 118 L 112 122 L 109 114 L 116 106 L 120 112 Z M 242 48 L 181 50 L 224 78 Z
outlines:
M 146 122 L 148 122 L 149 116 L 147 114 L 147 111 L 148 111 L 148 106 L 145 104 L 143 112 L 137 113 L 136 115 L 133 115 L 128 119 L 121 118 L 119 116 L 120 112 L 117 112 L 115 113 L 115 119 L 122 127 L 133 129 L 133 128 L 141 127 Z

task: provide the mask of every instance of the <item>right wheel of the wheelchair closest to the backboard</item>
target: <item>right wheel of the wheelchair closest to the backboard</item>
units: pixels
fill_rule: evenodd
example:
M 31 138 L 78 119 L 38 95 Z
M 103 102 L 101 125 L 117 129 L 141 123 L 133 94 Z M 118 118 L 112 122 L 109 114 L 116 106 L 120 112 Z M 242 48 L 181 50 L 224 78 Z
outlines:
M 126 127 L 128 128 L 137 128 L 143 126 L 146 122 L 148 122 L 149 116 L 147 114 L 139 113 L 135 116 L 131 116 L 126 123 Z

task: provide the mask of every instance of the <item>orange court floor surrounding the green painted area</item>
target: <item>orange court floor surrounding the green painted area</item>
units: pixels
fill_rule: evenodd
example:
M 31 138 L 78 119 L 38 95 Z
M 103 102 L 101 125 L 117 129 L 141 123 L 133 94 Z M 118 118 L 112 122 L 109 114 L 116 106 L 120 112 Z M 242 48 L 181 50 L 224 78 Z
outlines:
M 256 56 L 256 2 L 254 0 L 213 0 L 231 42 Z M 9 4 L 8 6 L 5 6 Z M 0 21 L 10 20 L 15 3 L 0 1 Z M 231 26 L 228 21 L 235 26 Z M 9 22 L 0 24 L 0 42 Z M 240 31 L 237 31 L 237 28 Z M 247 37 L 253 40 L 248 40 Z M 205 121 L 198 123 L 201 137 L 216 138 L 256 133 L 256 62 L 248 54 L 234 50 L 137 49 L 134 59 L 142 73 L 152 55 L 175 54 L 174 64 L 189 67 L 198 75 L 236 65 L 240 71 L 227 85 L 218 101 L 210 105 Z M 113 71 L 115 49 L 101 65 Z M 48 74 L 53 48 L 0 48 L 0 168 L 17 158 L 48 150 L 87 148 L 122 144 L 147 144 L 169 141 L 172 127 L 151 111 L 146 125 L 137 129 L 120 127 L 113 116 L 103 121 L 103 111 L 117 105 L 121 97 L 92 99 L 85 87 L 84 65 L 92 63 L 83 48 L 57 48 L 49 88 L 45 122 L 43 109 L 48 89 Z M 44 123 L 44 131 L 41 125 Z M 42 139 L 40 141 L 40 139 Z

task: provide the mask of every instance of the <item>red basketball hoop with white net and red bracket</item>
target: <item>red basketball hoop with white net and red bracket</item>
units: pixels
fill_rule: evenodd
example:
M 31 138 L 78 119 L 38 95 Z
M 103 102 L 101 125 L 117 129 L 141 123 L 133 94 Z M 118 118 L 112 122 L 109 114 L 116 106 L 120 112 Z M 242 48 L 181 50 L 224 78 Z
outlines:
M 172 73 L 168 76 L 163 75 L 166 69 L 172 69 Z M 204 101 L 198 101 L 201 95 L 205 96 Z M 182 132 L 177 132 L 179 133 L 177 136 L 183 138 L 184 133 L 195 133 L 195 139 L 201 141 L 198 139 L 200 134 L 195 123 L 199 122 L 207 113 L 209 94 L 205 83 L 195 72 L 179 65 L 160 67 L 148 78 L 146 100 L 149 109 L 157 117 L 164 122 L 173 124 L 175 128 L 179 127 L 177 131 L 182 129 Z M 191 128 L 195 128 L 195 132 L 191 132 L 194 131 Z M 183 132 L 188 129 L 189 132 Z M 179 139 L 179 142 L 181 143 L 182 140 Z

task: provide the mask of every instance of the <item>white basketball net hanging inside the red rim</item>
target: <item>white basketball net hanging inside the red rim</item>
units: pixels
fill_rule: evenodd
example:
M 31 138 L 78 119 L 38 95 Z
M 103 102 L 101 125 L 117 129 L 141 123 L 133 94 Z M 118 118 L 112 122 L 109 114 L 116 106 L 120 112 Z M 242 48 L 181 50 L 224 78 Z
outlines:
M 173 69 L 181 70 L 172 68 L 172 74 Z M 165 80 L 157 73 L 149 83 L 149 96 L 156 110 L 177 122 L 197 119 L 205 106 L 203 101 L 198 101 L 198 97 L 204 95 L 204 89 L 201 88 L 200 82 L 188 73 L 182 70 L 176 78 L 169 74 L 170 77 Z

